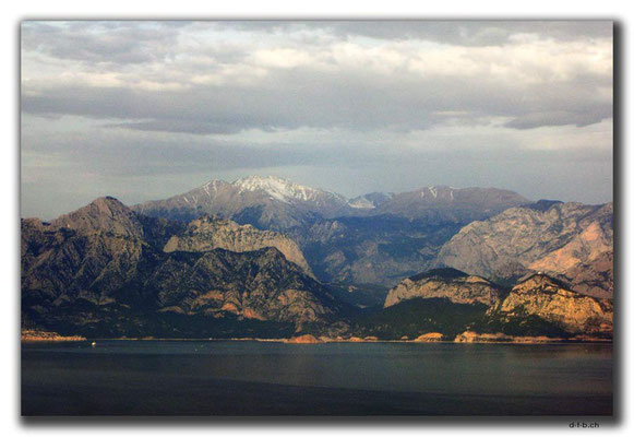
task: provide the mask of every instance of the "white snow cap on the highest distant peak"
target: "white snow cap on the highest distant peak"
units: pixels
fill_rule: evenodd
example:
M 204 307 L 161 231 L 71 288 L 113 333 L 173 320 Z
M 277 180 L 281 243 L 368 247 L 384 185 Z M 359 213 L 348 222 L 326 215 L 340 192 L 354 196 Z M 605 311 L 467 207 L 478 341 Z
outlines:
M 231 185 L 237 187 L 240 192 L 265 191 L 273 199 L 286 203 L 289 203 L 292 200 L 319 202 L 320 200 L 323 200 L 324 196 L 339 198 L 338 194 L 306 187 L 276 176 L 249 176 L 235 180 Z

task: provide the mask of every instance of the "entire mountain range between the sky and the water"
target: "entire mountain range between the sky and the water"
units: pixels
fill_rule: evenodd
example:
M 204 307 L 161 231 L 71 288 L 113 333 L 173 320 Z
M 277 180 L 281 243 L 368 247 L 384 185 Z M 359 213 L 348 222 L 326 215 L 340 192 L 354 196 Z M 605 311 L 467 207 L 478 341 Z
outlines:
M 24 218 L 21 228 L 25 329 L 88 338 L 611 336 L 611 203 L 450 187 L 348 200 L 251 177 L 132 208 L 99 198 L 50 223 Z

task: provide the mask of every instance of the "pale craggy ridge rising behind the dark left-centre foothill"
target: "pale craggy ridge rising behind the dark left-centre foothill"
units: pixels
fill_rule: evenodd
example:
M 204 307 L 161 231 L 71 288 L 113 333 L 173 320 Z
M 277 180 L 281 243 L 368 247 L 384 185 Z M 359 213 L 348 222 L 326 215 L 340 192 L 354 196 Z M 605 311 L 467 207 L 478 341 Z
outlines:
M 234 252 L 247 252 L 264 247 L 276 248 L 288 261 L 295 262 L 312 276 L 312 271 L 299 246 L 284 234 L 259 231 L 251 225 L 239 225 L 230 220 L 208 215 L 189 223 L 183 232 L 174 235 L 167 241 L 163 250 L 202 252 L 220 248 Z

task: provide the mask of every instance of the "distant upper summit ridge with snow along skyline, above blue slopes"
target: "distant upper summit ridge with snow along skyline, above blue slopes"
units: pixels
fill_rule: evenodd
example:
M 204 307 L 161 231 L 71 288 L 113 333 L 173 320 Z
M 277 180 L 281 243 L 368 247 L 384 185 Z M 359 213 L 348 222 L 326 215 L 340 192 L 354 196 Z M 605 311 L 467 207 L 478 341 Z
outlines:
M 354 199 L 275 176 L 250 176 L 231 184 L 213 180 L 166 200 L 132 206 L 145 215 L 189 222 L 203 214 L 288 231 L 320 220 L 393 215 L 427 224 L 468 223 L 528 203 L 513 191 L 495 188 L 427 187 L 399 194 L 372 192 Z

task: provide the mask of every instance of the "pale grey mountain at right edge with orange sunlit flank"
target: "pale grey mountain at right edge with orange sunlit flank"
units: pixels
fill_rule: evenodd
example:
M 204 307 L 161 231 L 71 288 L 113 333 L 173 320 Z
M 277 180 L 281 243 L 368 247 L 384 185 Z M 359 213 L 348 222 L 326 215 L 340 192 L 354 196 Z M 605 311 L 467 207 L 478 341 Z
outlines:
M 513 283 L 529 272 L 561 276 L 582 293 L 613 290 L 612 203 L 537 202 L 463 227 L 440 249 L 436 265 Z

